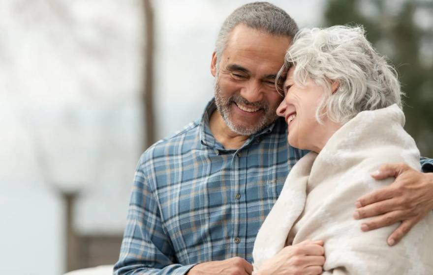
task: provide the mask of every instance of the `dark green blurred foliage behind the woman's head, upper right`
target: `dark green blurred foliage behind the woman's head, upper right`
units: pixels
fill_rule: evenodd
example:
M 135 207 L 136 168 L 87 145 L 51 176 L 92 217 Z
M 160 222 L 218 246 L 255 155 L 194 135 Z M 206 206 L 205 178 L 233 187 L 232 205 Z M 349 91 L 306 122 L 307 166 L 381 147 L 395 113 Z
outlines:
M 329 0 L 324 18 L 325 27 L 363 25 L 388 56 L 406 93 L 405 129 L 421 154 L 433 158 L 433 1 Z

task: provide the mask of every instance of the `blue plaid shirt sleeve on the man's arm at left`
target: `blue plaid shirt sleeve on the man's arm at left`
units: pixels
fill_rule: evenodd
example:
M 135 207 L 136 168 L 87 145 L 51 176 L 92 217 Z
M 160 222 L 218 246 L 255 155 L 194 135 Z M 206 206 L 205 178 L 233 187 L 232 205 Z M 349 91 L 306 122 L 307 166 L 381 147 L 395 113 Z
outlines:
M 154 192 L 138 167 L 120 257 L 114 266 L 115 275 L 184 275 L 194 266 L 176 263 L 173 245 L 160 217 Z

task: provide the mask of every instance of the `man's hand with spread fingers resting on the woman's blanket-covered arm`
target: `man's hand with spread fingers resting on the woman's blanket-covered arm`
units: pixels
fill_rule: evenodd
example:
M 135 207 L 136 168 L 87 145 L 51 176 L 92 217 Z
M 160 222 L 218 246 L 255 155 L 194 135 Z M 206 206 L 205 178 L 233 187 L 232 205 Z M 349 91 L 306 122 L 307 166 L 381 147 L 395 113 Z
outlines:
M 406 164 L 382 165 L 371 176 L 376 180 L 395 177 L 389 186 L 362 196 L 355 203 L 357 220 L 377 216 L 362 224 L 363 231 L 402 221 L 388 237 L 388 245 L 397 244 L 418 221 L 433 209 L 433 173 L 421 173 Z

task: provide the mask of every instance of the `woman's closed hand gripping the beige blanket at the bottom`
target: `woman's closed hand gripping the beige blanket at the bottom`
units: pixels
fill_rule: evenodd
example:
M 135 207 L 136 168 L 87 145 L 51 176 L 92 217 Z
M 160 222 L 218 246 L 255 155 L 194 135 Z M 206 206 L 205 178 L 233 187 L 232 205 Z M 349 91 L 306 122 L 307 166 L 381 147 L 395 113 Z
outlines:
M 323 272 L 325 249 L 322 241 L 304 241 L 284 247 L 263 263 L 257 275 L 318 275 Z M 255 272 L 254 272 L 255 273 Z

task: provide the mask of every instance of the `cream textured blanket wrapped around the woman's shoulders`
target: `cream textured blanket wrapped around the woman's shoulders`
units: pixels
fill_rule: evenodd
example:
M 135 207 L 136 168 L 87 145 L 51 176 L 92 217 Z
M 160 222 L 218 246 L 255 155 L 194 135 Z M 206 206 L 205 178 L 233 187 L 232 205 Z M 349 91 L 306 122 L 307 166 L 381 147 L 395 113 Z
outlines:
M 254 270 L 288 244 L 323 240 L 323 274 L 433 275 L 433 214 L 394 247 L 387 237 L 398 224 L 361 231 L 355 201 L 389 185 L 370 173 L 385 163 L 419 170 L 419 151 L 403 130 L 404 114 L 393 105 L 364 111 L 340 128 L 320 154 L 310 152 L 293 166 L 254 244 Z

